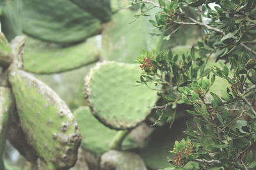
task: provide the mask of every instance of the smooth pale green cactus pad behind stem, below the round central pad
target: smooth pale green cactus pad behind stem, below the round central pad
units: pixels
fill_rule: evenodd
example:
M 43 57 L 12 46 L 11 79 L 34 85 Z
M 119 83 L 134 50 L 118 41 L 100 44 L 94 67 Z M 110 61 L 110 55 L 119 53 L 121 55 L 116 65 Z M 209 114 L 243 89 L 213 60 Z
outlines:
M 109 143 L 111 143 L 118 131 L 109 129 L 101 124 L 97 118 L 93 117 L 90 108 L 87 106 L 80 107 L 74 111 L 74 116 L 82 136 L 81 146 L 93 153 L 107 152 L 109 150 Z M 138 128 L 133 131 L 138 131 Z M 131 135 L 128 134 L 124 139 L 122 150 L 140 147 L 140 139 L 136 141 L 134 138 L 138 138 L 138 136 L 132 136 L 132 132 Z

